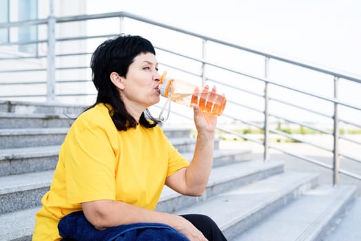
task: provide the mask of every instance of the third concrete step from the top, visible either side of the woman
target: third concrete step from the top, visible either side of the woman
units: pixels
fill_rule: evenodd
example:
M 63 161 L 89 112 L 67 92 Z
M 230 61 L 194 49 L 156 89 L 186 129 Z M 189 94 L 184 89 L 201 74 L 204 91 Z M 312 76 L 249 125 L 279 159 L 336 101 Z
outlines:
M 61 145 L 68 133 L 69 127 L 61 128 L 18 128 L 18 129 L 0 129 L 0 149 L 13 149 L 21 147 L 39 147 L 47 145 Z M 194 149 L 195 138 L 172 137 L 180 136 L 190 132 L 190 129 L 174 131 L 173 129 L 164 129 L 166 136 L 174 143 L 175 147 L 181 152 Z M 219 141 L 216 140 L 215 148 L 219 147 Z

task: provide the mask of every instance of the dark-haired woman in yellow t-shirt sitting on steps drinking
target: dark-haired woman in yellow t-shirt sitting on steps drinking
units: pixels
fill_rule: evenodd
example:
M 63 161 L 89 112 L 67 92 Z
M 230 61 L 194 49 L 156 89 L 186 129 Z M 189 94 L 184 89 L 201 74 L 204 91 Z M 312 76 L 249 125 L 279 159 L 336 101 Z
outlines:
M 74 121 L 61 146 L 50 191 L 36 216 L 33 240 L 61 240 L 58 225 L 75 226 L 84 233 L 84 227 L 76 229 L 79 216 L 94 233 L 152 223 L 165 224 L 189 240 L 225 240 L 207 216 L 154 211 L 163 185 L 189 196 L 205 191 L 216 116 L 193 106 L 198 135 L 189 164 L 147 111 L 160 101 L 161 76 L 152 43 L 141 36 L 109 39 L 95 50 L 91 67 L 96 103 Z M 69 224 L 71 220 L 77 222 Z

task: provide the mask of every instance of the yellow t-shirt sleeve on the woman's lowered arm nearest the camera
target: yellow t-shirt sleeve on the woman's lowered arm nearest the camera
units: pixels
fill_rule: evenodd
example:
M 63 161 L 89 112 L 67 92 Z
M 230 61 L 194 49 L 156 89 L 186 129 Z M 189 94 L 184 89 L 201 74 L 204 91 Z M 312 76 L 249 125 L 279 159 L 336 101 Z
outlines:
M 68 202 L 115 200 L 115 155 L 109 138 L 101 127 L 72 134 L 64 154 Z

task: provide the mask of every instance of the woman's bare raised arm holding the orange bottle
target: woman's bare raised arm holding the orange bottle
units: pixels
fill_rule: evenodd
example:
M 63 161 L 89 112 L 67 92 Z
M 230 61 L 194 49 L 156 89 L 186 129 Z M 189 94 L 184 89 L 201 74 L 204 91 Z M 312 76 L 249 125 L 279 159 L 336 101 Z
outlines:
M 207 95 L 208 86 L 205 87 L 205 90 L 205 95 Z M 212 93 L 216 93 L 216 87 L 213 87 L 212 92 L 210 92 L 210 98 Z M 206 105 L 206 103 L 199 103 L 199 105 Z M 193 109 L 194 123 L 198 134 L 192 162 L 188 167 L 169 176 L 165 184 L 184 195 L 201 196 L 207 187 L 213 165 L 214 132 L 217 117 L 200 111 L 198 105 L 194 105 Z

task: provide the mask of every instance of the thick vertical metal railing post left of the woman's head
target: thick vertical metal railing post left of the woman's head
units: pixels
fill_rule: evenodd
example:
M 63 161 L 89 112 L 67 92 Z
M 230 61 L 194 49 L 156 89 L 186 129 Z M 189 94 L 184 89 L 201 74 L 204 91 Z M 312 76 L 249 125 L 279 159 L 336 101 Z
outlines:
M 48 17 L 48 101 L 55 99 L 55 23 L 54 0 L 51 0 Z

